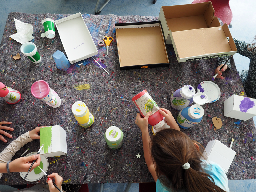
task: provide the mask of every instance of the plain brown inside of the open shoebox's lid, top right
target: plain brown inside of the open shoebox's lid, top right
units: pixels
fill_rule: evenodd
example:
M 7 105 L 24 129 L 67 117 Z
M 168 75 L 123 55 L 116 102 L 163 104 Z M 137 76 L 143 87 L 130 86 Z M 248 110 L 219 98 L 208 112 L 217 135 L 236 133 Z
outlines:
M 222 27 L 177 31 L 171 34 L 179 58 L 237 51 L 230 47 Z

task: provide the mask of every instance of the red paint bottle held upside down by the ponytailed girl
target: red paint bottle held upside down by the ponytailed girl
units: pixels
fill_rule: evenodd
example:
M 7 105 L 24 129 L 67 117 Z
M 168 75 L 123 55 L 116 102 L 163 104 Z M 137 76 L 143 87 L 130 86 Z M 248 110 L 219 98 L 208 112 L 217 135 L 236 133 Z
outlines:
M 151 124 L 155 130 L 164 126 L 166 122 L 164 116 L 159 113 L 159 107 L 145 89 L 134 96 L 132 101 L 143 117 L 145 117 L 149 111 L 152 111 L 151 116 L 148 118 L 148 123 Z

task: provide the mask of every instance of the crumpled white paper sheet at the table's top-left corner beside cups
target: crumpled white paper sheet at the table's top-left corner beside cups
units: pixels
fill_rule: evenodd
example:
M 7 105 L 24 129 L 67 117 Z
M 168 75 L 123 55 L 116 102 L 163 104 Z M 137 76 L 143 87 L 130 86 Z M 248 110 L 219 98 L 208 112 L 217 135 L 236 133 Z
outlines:
M 9 37 L 11 37 L 12 39 L 16 40 L 21 44 L 27 43 L 34 39 L 34 37 L 32 36 L 33 26 L 31 24 L 23 23 L 15 18 L 14 21 L 17 33 L 10 35 Z

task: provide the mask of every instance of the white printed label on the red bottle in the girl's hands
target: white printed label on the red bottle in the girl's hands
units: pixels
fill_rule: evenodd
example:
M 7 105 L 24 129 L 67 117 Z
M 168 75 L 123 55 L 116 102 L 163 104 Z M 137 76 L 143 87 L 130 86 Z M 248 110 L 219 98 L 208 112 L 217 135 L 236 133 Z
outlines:
M 152 111 L 152 114 L 159 111 L 159 107 L 156 105 L 156 102 L 152 99 L 148 92 L 142 95 L 139 99 L 135 100 L 134 103 L 140 109 L 143 116 L 146 116 L 149 111 Z

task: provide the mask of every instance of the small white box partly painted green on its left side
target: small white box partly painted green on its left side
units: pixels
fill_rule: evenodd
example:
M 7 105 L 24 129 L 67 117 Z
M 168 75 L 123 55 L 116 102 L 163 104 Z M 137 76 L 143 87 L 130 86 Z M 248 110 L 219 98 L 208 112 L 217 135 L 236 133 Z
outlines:
M 40 129 L 40 146 L 43 144 L 40 151 L 42 156 L 55 157 L 68 153 L 66 131 L 60 125 Z

